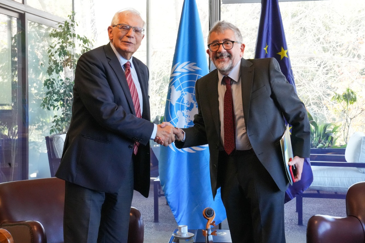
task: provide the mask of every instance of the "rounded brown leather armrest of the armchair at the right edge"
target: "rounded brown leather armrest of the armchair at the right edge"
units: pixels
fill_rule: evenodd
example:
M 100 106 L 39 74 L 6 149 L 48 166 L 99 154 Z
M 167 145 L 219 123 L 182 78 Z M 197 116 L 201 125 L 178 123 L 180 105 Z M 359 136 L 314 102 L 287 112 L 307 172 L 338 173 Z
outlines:
M 361 221 L 355 216 L 312 216 L 307 225 L 307 243 L 326 242 L 364 242 Z

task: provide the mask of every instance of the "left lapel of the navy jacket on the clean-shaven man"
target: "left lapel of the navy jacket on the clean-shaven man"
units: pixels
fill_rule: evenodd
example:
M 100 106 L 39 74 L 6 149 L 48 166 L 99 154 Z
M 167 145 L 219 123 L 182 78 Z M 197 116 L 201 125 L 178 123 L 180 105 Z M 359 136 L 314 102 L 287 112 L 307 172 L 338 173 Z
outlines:
M 118 81 L 119 81 L 120 85 L 122 86 L 124 95 L 125 95 L 125 97 L 127 99 L 128 106 L 130 108 L 130 111 L 134 115 L 136 115 L 136 112 L 134 110 L 134 104 L 133 104 L 131 92 L 130 92 L 129 87 L 128 87 L 128 83 L 127 83 L 126 76 L 124 74 L 124 71 L 122 69 L 122 66 L 120 66 L 120 62 L 119 62 L 118 58 L 116 57 L 116 55 L 115 55 L 112 47 L 110 46 L 110 43 L 108 43 L 105 46 L 105 49 L 104 50 L 105 50 L 106 57 L 108 59 L 110 59 L 109 65 L 114 70 L 115 76 L 118 78 Z

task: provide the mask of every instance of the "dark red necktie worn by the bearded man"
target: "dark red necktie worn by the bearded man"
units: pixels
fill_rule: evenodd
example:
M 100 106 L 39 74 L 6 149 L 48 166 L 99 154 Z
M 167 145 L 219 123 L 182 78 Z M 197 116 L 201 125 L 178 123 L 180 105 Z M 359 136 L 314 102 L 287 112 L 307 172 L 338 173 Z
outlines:
M 224 150 L 229 155 L 235 148 L 235 116 L 233 110 L 233 99 L 231 89 L 231 78 L 223 77 L 226 83 L 226 93 L 224 93 Z

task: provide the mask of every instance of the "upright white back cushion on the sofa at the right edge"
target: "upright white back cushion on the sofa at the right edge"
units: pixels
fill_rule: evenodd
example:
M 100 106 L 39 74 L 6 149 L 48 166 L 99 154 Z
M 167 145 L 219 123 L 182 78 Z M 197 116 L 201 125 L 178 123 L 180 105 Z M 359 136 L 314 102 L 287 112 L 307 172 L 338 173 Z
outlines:
M 345 159 L 349 163 L 365 163 L 365 134 L 355 132 L 351 135 L 346 146 Z M 365 173 L 365 168 L 357 168 Z

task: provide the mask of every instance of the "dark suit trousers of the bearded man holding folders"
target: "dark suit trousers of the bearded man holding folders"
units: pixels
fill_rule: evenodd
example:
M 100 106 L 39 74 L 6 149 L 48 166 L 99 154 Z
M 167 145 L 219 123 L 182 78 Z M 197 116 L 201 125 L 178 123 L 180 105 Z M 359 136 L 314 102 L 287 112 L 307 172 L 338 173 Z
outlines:
M 218 171 L 232 242 L 285 243 L 285 193 L 254 151 L 220 151 Z

